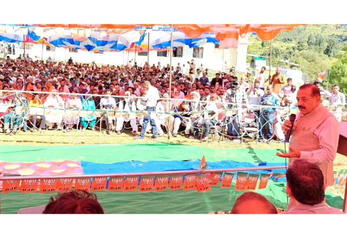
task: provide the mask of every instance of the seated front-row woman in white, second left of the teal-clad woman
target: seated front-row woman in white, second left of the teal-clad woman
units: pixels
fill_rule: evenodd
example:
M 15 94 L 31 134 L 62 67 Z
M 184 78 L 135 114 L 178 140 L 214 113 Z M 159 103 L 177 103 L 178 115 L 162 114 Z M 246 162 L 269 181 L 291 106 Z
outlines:
M 52 129 L 53 124 L 57 124 L 58 125 L 57 129 L 61 129 L 60 124 L 63 119 L 62 117 L 63 110 L 58 110 L 58 108 L 64 108 L 64 101 L 61 99 L 61 97 L 57 95 L 57 92 L 58 91 L 56 89 L 53 89 L 52 93 L 49 94 L 49 96 L 47 97 L 47 99 L 45 100 L 43 104 L 44 107 L 57 108 L 57 109 L 51 109 L 50 113 L 45 115 L 46 125 L 48 126 L 48 129 Z

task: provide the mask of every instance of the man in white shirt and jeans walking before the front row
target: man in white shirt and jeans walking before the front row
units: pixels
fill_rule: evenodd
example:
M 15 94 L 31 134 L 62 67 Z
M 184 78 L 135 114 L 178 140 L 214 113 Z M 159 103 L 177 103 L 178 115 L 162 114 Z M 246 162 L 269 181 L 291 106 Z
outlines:
M 150 81 L 145 82 L 145 88 L 147 90 L 147 93 L 143 101 L 147 103 L 146 112 L 148 112 L 148 115 L 144 116 L 144 122 L 142 124 L 142 130 L 141 130 L 140 136 L 135 137 L 134 138 L 135 140 L 144 139 L 148 121 L 151 122 L 151 126 L 153 128 L 153 139 L 158 138 L 156 122 L 154 121 L 154 119 L 151 119 L 151 112 L 156 111 L 157 100 L 160 98 L 159 92 L 156 87 L 153 87 L 151 85 Z

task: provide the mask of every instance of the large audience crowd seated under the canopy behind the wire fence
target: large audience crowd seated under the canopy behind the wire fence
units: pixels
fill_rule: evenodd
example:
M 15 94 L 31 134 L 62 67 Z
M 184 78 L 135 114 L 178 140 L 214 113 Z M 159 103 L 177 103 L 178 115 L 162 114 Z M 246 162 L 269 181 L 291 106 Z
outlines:
M 0 64 L 0 90 L 29 92 L 2 92 L 0 103 L 13 106 L 5 112 L 0 112 L 0 131 L 14 135 L 23 121 L 28 122 L 31 131 L 37 129 L 42 132 L 46 128 L 69 131 L 76 125 L 82 130 L 95 130 L 98 127 L 97 122 L 101 120 L 105 121 L 108 134 L 121 134 L 124 123 L 130 122 L 132 135 L 136 136 L 138 127 L 143 127 L 145 123 L 148 124 L 146 131 L 153 128 L 154 138 L 164 135 L 164 130 L 170 130 L 174 137 L 184 131 L 187 138 L 192 135 L 196 139 L 206 141 L 210 128 L 222 125 L 226 129 L 223 134 L 231 141 L 239 142 L 241 128 L 252 124 L 258 130 L 259 142 L 271 143 L 274 134 L 283 141 L 281 124 L 283 118 L 288 116 L 289 108 L 296 106 L 298 88 L 292 83 L 292 78 L 287 78 L 287 84 L 282 86 L 284 77 L 280 74 L 280 68 L 276 69 L 276 74 L 271 78 L 266 77 L 265 67 L 254 77 L 248 69 L 246 74 L 239 75 L 238 78 L 233 67 L 228 73 L 216 73 L 210 80 L 203 69 L 196 69 L 195 74 L 193 60 L 188 64 L 189 68 L 184 68 L 184 64 L 183 67 L 178 64 L 175 70 L 172 69 L 173 80 L 170 89 L 170 65 L 163 67 L 160 62 L 157 66 L 150 66 L 146 62 L 140 67 L 136 63 L 98 66 L 95 62 L 64 64 L 52 60 L 29 60 L 24 73 L 23 61 L 20 58 L 6 59 Z M 188 73 L 185 74 L 186 72 Z M 265 86 L 268 81 L 268 86 Z M 150 82 L 148 88 L 145 86 L 146 82 Z M 321 82 L 317 79 L 315 84 L 321 87 Z M 147 100 L 150 94 L 148 91 L 153 91 L 151 88 L 155 88 L 158 92 L 157 98 L 161 98 L 155 100 L 152 106 L 157 116 L 152 118 L 150 113 L 149 118 L 146 113 L 130 113 L 149 108 L 150 102 Z M 339 85 L 335 85 L 334 92 L 330 93 L 321 87 L 322 104 L 338 112 L 337 117 L 341 117 L 339 112 L 342 112 L 346 103 L 345 95 L 339 92 L 339 89 Z M 151 95 L 156 95 L 153 92 Z M 329 102 L 325 97 L 329 97 Z M 42 111 L 32 114 L 27 108 L 16 110 L 17 106 L 72 109 L 71 111 L 84 109 L 91 113 L 83 116 L 74 113 L 43 115 Z M 101 115 L 95 115 L 92 111 L 96 109 L 105 111 Z M 223 109 L 229 110 L 230 113 L 219 113 Z M 165 113 L 170 113 L 170 116 L 160 116 Z M 148 123 L 150 119 L 152 122 Z M 246 122 L 247 119 L 250 121 Z M 201 125 L 205 130 L 199 137 Z M 143 133 L 140 137 L 144 137 Z

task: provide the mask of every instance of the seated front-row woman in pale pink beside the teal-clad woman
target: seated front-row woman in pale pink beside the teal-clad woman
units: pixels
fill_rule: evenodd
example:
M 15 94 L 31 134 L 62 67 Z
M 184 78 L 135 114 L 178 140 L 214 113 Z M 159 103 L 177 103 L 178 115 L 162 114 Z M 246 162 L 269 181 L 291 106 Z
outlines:
M 72 90 L 72 93 L 78 93 L 77 90 Z M 72 98 L 67 99 L 65 102 L 65 109 L 81 109 L 82 101 L 77 94 L 72 94 Z M 71 115 L 66 115 L 70 114 Z M 77 115 L 76 115 L 77 113 Z M 63 116 L 63 122 L 65 123 L 66 130 L 70 130 L 75 124 L 79 123 L 78 111 L 75 110 L 65 110 L 65 115 Z

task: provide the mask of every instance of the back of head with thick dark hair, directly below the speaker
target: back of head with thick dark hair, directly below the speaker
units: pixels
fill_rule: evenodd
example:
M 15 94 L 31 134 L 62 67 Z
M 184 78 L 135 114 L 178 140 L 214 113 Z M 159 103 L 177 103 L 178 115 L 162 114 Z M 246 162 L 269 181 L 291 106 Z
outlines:
M 286 172 L 287 185 L 299 203 L 316 205 L 324 201 L 324 176 L 318 165 L 298 159 Z

